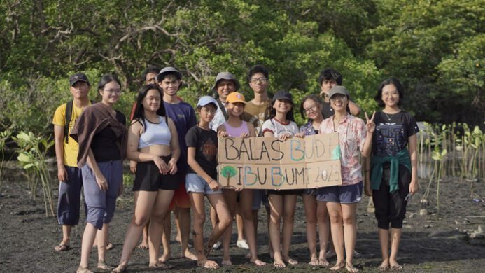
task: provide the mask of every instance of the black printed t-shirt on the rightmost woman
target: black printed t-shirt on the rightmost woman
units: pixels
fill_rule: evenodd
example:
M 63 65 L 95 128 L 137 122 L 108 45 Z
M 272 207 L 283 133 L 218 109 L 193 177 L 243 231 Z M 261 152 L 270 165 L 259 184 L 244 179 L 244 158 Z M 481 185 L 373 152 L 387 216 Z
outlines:
M 407 139 L 419 132 L 414 117 L 405 111 L 387 114 L 377 112 L 376 130 L 372 135 L 372 155 L 394 156 L 407 147 Z

